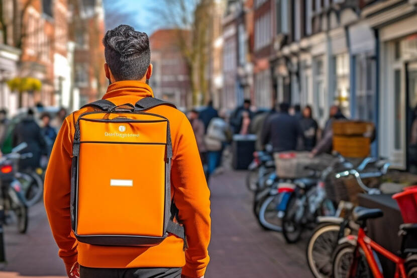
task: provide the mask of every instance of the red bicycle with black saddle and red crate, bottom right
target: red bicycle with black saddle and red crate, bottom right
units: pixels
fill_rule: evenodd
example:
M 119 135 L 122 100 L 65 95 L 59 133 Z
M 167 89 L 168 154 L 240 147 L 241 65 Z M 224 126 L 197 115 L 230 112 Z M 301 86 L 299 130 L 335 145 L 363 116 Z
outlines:
M 353 220 L 360 228 L 356 236 L 349 235 L 339 241 L 333 257 L 334 278 L 384 278 L 377 253 L 395 263 L 394 278 L 417 278 L 417 248 L 406 247 L 408 240 L 417 235 L 417 187 L 393 198 L 397 200 L 406 223 L 399 227 L 402 236 L 399 255 L 389 252 L 366 235 L 366 221 L 382 217 L 382 211 L 357 207 Z

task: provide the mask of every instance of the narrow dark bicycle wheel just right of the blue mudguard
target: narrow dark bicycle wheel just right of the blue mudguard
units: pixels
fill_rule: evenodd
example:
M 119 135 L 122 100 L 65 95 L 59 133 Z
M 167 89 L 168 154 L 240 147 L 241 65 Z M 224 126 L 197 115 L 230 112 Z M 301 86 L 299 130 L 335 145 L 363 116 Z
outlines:
M 297 242 L 304 230 L 299 221 L 299 216 L 304 214 L 304 206 L 295 194 L 292 194 L 288 200 L 287 209 L 282 219 L 282 235 L 287 243 Z

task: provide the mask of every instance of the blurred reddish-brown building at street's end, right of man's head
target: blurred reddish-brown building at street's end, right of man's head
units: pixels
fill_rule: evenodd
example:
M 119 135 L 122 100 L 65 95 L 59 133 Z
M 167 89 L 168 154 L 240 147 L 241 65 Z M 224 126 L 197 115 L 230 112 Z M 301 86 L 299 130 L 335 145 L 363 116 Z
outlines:
M 153 72 L 149 84 L 155 97 L 185 109 L 192 102 L 191 88 L 188 68 L 178 45 L 178 32 L 185 31 L 161 29 L 150 36 Z

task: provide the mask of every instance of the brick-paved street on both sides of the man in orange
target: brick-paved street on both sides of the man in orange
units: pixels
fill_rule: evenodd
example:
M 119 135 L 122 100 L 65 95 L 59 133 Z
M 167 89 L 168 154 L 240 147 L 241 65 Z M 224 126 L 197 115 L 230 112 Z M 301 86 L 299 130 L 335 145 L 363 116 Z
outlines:
M 213 176 L 211 256 L 205 278 L 311 277 L 305 262 L 305 239 L 287 245 L 280 234 L 263 231 L 252 214 L 245 172 Z M 6 228 L 8 264 L 0 277 L 65 277 L 42 204 L 31 208 L 27 235 Z M 0 266 L 1 267 L 1 266 Z

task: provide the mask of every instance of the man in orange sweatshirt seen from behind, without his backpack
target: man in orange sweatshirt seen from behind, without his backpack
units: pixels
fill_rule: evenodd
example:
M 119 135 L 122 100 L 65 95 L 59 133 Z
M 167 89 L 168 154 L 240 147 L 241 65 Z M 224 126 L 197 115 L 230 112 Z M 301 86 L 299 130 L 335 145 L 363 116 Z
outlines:
M 152 89 L 147 85 L 152 75 L 148 36 L 128 25 L 120 25 L 106 33 L 103 44 L 106 77 L 111 83 L 103 99 L 115 105 L 134 105 L 144 97 L 153 97 Z M 146 112 L 169 120 L 173 148 L 171 198 L 185 227 L 188 248 L 184 251 L 183 240 L 172 234 L 151 247 L 98 246 L 75 240 L 70 220 L 74 121 L 82 113 L 92 110 L 91 107 L 83 108 L 65 118 L 45 177 L 45 208 L 68 276 L 78 276 L 79 268 L 82 278 L 203 277 L 209 262 L 210 192 L 191 125 L 183 113 L 172 107 L 157 106 Z M 126 153 L 126 157 L 131 159 L 129 153 Z M 111 157 L 103 159 L 109 159 L 109 163 L 112 163 Z M 115 200 L 114 204 L 109 205 L 114 206 L 118 202 L 123 200 Z

